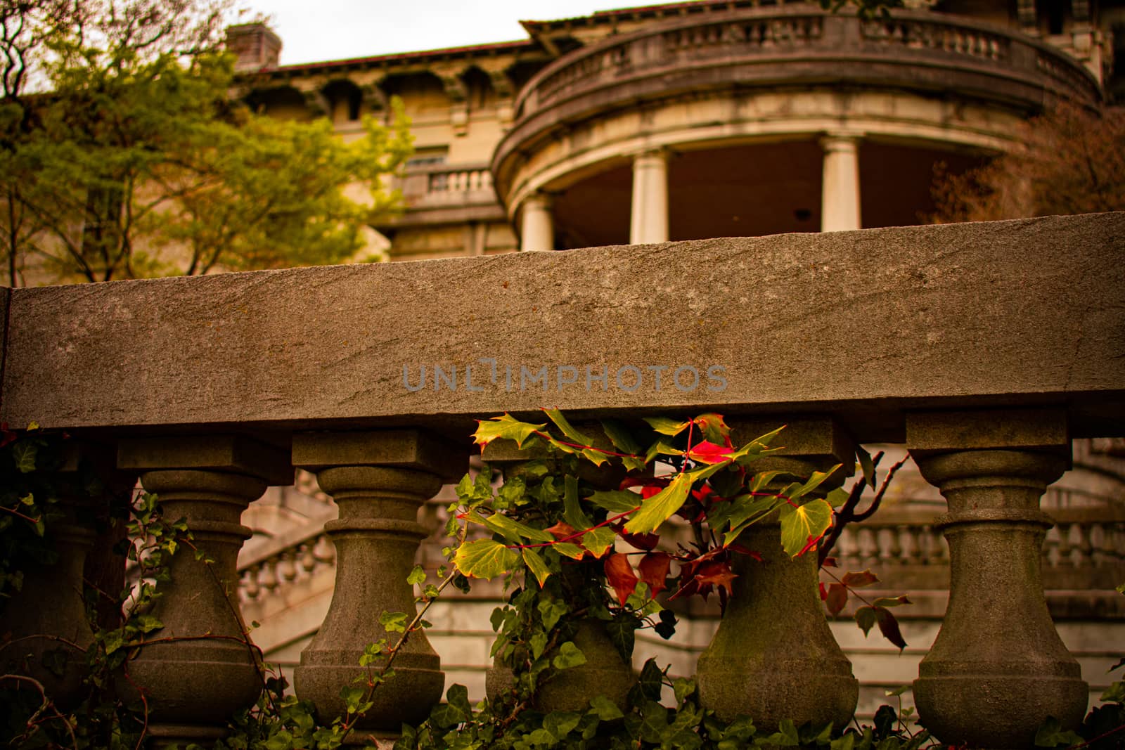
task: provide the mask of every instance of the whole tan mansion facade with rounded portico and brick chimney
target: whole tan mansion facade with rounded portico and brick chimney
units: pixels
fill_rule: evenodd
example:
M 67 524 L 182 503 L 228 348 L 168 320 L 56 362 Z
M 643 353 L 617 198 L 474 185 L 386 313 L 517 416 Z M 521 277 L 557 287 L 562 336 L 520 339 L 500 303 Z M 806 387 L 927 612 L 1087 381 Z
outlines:
M 277 65 L 264 27 L 231 46 L 246 101 L 342 137 L 402 98 L 406 210 L 375 227 L 395 260 L 918 224 L 935 168 L 1016 148 L 1052 101 L 1120 85 L 1119 2 L 908 4 L 680 2 L 304 65 Z

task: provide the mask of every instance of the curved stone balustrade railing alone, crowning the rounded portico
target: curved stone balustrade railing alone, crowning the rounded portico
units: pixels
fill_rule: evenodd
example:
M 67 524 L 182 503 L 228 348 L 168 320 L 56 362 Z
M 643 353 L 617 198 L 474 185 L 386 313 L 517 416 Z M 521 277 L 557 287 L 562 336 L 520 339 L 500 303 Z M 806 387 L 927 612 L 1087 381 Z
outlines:
M 636 83 L 649 78 L 664 78 L 668 92 L 688 80 L 705 84 L 700 73 L 717 65 L 737 73 L 740 85 L 899 79 L 925 89 L 942 83 L 932 74 L 939 69 L 953 76 L 944 79 L 951 89 L 964 92 L 991 80 L 1000 89 L 993 96 L 1009 87 L 1032 106 L 1042 105 L 1044 93 L 1100 99 L 1081 63 L 1017 31 L 944 13 L 899 10 L 892 18 L 864 20 L 807 4 L 692 17 L 584 47 L 523 87 L 516 116 L 528 118 L 608 87 L 636 97 Z M 627 84 L 632 87 L 626 90 Z

